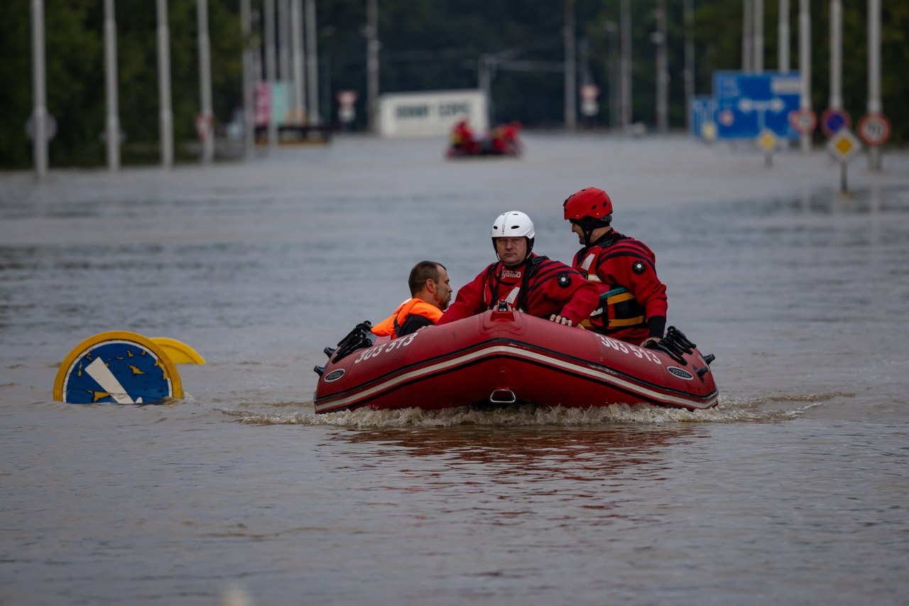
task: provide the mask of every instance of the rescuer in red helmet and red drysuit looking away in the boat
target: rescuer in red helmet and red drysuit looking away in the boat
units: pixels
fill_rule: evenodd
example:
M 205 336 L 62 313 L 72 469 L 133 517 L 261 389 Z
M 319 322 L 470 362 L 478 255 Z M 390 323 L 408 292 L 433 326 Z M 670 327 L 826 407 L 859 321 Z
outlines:
M 634 345 L 661 340 L 668 305 L 654 252 L 613 229 L 613 201 L 602 189 L 576 191 L 563 207 L 583 245 L 572 266 L 599 291 L 599 305 L 584 325 Z

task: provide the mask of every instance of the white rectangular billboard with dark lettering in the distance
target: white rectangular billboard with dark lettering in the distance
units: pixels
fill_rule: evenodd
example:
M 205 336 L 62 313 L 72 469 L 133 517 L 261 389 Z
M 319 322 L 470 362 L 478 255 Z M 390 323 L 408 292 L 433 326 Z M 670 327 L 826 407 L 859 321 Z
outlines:
M 480 90 L 394 93 L 379 97 L 382 136 L 448 135 L 466 117 L 478 136 L 489 130 L 486 96 Z

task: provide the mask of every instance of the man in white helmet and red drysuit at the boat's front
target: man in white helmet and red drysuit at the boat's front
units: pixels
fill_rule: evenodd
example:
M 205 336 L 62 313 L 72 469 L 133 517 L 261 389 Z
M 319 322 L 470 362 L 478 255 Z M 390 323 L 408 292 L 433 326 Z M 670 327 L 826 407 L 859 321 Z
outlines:
M 534 223 L 525 213 L 502 213 L 493 223 L 498 261 L 461 288 L 437 326 L 498 308 L 500 302 L 537 318 L 576 326 L 597 304 L 592 282 L 564 263 L 534 254 Z

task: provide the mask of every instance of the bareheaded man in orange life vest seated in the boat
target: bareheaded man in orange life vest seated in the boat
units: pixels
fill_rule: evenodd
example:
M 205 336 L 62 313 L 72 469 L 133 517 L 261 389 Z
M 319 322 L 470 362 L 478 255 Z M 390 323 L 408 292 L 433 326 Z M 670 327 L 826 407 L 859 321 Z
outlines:
M 407 285 L 411 298 L 372 328 L 376 336 L 404 337 L 425 326 L 432 326 L 452 300 L 448 271 L 441 263 L 420 261 L 410 270 Z

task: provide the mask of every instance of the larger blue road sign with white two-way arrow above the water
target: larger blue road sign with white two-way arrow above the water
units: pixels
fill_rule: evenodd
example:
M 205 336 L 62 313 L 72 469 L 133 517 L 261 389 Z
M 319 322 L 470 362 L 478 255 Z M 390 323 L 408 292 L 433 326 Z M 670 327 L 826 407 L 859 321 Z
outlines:
M 714 72 L 717 138 L 754 139 L 766 129 L 797 139 L 789 114 L 799 108 L 801 83 L 798 72 Z

